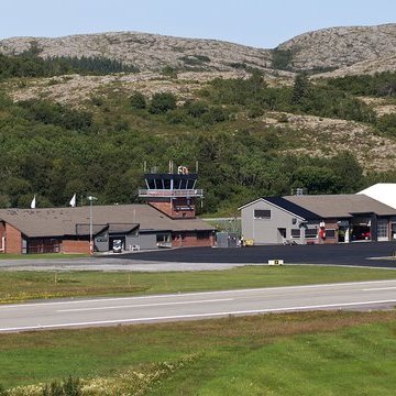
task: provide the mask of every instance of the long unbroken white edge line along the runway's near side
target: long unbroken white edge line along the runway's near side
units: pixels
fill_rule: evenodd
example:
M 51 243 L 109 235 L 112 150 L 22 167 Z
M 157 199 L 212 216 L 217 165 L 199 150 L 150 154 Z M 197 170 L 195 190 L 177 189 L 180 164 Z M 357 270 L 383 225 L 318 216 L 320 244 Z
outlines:
M 57 328 L 69 328 L 69 327 L 84 327 L 84 326 L 99 326 L 99 324 L 116 324 L 116 323 L 133 323 L 141 321 L 154 321 L 154 320 L 180 320 L 180 319 L 195 319 L 195 318 L 212 318 L 212 317 L 226 317 L 229 315 L 251 315 L 251 314 L 265 314 L 265 312 L 287 312 L 296 310 L 308 310 L 308 309 L 321 309 L 321 308 L 338 308 L 338 307 L 356 307 L 373 304 L 388 304 L 396 302 L 396 299 L 391 300 L 373 300 L 373 301 L 361 301 L 361 302 L 340 302 L 340 304 L 324 304 L 316 306 L 302 306 L 302 307 L 286 307 L 286 308 L 263 308 L 254 310 L 242 310 L 242 311 L 224 311 L 224 312 L 212 312 L 212 314 L 188 314 L 188 315 L 176 315 L 176 316 L 164 316 L 164 317 L 146 317 L 146 318 L 133 318 L 133 319 L 119 319 L 119 320 L 100 320 L 90 322 L 74 322 L 74 323 L 56 323 L 56 324 L 37 324 L 37 326 L 25 326 L 25 327 L 13 327 L 13 328 L 0 328 L 0 331 L 23 331 L 23 330 L 44 330 L 44 329 L 57 329 Z

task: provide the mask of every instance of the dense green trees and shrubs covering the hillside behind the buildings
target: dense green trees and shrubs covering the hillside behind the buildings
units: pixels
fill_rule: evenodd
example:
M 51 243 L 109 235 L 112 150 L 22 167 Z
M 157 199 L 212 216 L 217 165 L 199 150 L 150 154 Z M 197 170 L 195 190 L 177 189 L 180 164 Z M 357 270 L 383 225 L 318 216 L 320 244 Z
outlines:
M 30 61 L 35 67 L 47 62 Z M 100 204 L 134 202 L 144 162 L 165 172 L 172 160 L 187 166 L 198 161 L 202 213 L 233 215 L 257 196 L 296 187 L 354 193 L 381 177 L 364 176 L 349 152 L 331 158 L 294 154 L 300 134 L 287 123 L 264 127 L 258 120 L 267 111 L 354 120 L 395 135 L 394 116 L 376 119 L 350 88 L 311 82 L 306 75 L 292 87 L 274 88 L 253 70 L 248 79 L 215 79 L 196 94 L 179 102 L 172 92 L 119 90 L 80 108 L 12 102 L 0 94 L 0 207 L 29 207 L 33 194 L 38 207 L 65 206 L 75 193 L 94 194 Z M 389 172 L 387 178 L 395 176 Z

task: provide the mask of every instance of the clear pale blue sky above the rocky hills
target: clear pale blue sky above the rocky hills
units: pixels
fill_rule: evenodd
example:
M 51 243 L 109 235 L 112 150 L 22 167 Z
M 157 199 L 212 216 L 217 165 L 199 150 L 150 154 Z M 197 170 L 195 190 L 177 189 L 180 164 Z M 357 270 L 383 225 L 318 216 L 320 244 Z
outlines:
M 394 22 L 395 0 L 1 0 L 0 40 L 134 31 L 273 48 L 318 29 Z

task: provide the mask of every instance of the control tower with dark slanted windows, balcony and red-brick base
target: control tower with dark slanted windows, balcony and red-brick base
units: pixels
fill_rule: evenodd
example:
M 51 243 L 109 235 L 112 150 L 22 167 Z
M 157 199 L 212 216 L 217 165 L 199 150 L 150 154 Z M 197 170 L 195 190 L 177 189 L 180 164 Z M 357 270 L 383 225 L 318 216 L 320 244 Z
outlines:
M 204 190 L 196 189 L 197 170 L 190 173 L 186 166 L 173 170 L 169 163 L 168 173 L 156 173 L 155 169 L 144 175 L 146 189 L 139 190 L 139 197 L 173 219 L 194 219 L 197 198 L 204 198 Z

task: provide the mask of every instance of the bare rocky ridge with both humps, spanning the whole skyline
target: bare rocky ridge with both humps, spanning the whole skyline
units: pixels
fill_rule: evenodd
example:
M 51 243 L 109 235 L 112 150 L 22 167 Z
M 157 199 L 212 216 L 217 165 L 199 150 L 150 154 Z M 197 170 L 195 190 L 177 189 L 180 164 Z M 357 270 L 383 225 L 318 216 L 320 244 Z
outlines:
M 274 50 L 138 32 L 0 41 L 0 53 L 3 54 L 20 54 L 32 47 L 37 48 L 42 57 L 101 56 L 136 66 L 141 72 L 158 72 L 164 66 L 172 66 L 199 72 L 260 68 L 270 74 L 272 69 L 341 69 L 345 75 L 365 73 L 367 67 L 375 70 L 378 65 L 382 70 L 393 70 L 396 24 L 322 29 L 298 35 Z

